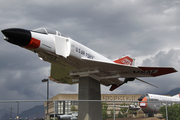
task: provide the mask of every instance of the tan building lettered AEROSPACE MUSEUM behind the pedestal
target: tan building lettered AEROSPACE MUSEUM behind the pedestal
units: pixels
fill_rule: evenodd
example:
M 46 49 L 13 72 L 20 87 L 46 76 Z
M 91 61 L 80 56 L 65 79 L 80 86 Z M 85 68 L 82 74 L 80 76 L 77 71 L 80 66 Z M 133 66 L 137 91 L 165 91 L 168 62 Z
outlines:
M 130 95 L 130 94 L 102 94 L 102 102 L 107 103 L 108 105 L 108 114 L 114 106 L 126 106 L 130 104 L 138 105 L 138 98 L 141 95 Z M 72 111 L 78 110 L 78 94 L 58 94 L 52 97 L 48 102 L 48 114 L 68 114 Z M 55 102 L 54 102 L 55 101 Z M 113 102 L 115 101 L 115 102 Z M 46 108 L 45 114 L 47 114 L 47 102 L 44 103 Z M 120 107 L 115 107 L 116 114 L 118 114 Z

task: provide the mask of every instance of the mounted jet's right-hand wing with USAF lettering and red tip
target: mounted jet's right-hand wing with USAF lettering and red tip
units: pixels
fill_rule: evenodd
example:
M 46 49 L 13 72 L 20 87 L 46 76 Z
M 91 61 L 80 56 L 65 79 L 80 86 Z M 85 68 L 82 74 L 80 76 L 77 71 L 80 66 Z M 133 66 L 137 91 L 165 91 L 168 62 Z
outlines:
M 83 58 L 83 61 L 85 61 L 86 64 L 88 64 L 91 67 L 98 66 L 99 71 L 108 72 L 108 74 L 118 74 L 120 78 L 156 77 L 160 75 L 177 72 L 177 70 L 175 70 L 172 67 L 133 67 L 116 63 L 107 63 L 96 60 L 90 60 L 87 58 Z

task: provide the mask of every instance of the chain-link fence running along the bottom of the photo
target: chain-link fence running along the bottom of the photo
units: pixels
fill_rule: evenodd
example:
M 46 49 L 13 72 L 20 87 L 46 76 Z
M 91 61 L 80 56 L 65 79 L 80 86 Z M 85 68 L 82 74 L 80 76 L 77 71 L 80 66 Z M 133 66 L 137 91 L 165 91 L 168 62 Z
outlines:
M 0 101 L 0 120 L 61 120 L 63 117 L 69 117 L 69 120 L 78 119 L 79 102 L 85 100 L 48 100 L 48 101 Z M 109 120 L 119 120 L 123 117 L 145 118 L 154 116 L 150 113 L 144 113 L 139 107 L 138 101 L 91 101 L 101 102 L 102 118 Z M 143 102 L 146 104 L 146 102 Z M 166 117 L 168 118 L 168 106 L 172 103 L 150 101 L 152 109 L 166 106 Z M 156 111 L 156 109 L 154 109 Z M 155 114 L 157 118 L 162 115 Z M 61 118 L 61 119 L 60 119 Z

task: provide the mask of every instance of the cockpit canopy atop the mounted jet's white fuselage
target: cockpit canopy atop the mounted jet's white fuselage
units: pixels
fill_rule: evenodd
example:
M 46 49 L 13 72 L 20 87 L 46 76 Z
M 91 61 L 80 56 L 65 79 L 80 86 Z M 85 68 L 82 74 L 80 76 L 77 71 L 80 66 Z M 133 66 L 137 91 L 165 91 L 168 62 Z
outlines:
M 51 30 L 48 28 L 38 28 L 38 29 L 35 29 L 32 31 L 42 33 L 42 34 L 53 34 L 53 35 L 59 35 L 59 36 L 67 37 L 66 35 L 63 35 L 62 33 L 60 33 L 59 31 Z

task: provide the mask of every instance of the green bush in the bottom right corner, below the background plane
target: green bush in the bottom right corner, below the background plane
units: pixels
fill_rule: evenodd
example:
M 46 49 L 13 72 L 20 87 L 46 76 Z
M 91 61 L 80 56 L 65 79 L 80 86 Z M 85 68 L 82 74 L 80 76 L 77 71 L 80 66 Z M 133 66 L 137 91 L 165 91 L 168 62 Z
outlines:
M 166 105 L 159 109 L 160 113 L 166 118 Z M 180 120 L 180 104 L 167 106 L 168 120 Z

